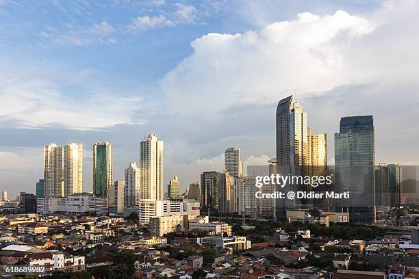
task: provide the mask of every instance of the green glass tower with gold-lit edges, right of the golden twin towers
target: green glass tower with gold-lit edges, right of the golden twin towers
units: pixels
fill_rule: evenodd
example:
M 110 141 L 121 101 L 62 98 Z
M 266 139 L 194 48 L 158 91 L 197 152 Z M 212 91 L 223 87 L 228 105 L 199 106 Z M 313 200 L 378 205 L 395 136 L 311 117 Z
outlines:
M 113 183 L 113 144 L 97 142 L 93 144 L 93 194 L 107 198 L 108 188 Z

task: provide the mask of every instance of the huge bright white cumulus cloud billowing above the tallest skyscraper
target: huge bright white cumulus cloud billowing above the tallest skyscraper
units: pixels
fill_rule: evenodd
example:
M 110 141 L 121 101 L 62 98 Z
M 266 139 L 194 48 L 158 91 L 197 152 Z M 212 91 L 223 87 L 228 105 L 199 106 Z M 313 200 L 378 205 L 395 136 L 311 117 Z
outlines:
M 238 103 L 276 101 L 278 93 L 329 90 L 364 72 L 346 70 L 345 52 L 374 25 L 338 11 L 299 14 L 244 34 L 208 34 L 192 42 L 194 53 L 168 72 L 161 85 L 179 113 L 224 109 Z

